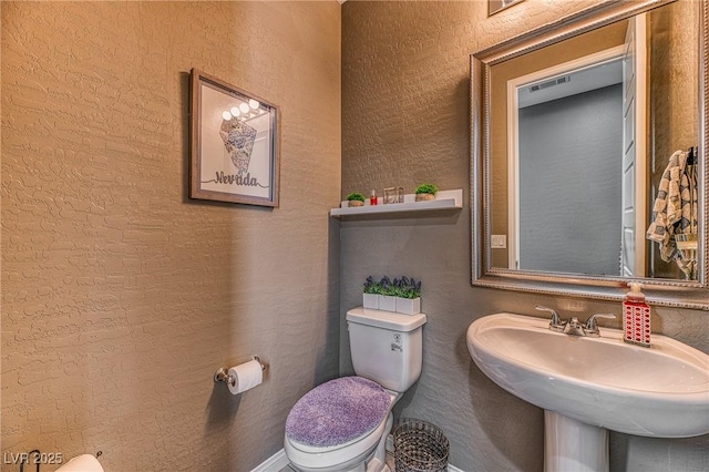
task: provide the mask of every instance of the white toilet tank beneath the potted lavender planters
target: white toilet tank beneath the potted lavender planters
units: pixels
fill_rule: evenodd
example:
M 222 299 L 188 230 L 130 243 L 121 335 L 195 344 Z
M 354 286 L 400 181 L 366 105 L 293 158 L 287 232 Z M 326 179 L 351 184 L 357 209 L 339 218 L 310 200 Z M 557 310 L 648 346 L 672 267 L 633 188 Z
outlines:
M 347 312 L 354 372 L 405 392 L 421 374 L 425 315 L 354 308 Z

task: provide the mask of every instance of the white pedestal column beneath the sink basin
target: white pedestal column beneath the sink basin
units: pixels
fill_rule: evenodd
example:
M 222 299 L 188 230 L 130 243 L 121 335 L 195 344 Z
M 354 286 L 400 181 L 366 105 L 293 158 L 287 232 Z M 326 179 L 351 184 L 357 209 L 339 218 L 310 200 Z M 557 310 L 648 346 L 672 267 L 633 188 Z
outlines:
M 544 471 L 608 472 L 608 430 L 544 410 Z

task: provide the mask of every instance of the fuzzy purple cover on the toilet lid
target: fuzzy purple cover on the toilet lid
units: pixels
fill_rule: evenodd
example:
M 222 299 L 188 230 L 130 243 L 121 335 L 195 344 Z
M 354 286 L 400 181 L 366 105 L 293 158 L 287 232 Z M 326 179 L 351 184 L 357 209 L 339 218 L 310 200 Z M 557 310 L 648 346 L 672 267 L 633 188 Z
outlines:
M 362 377 L 342 377 L 310 390 L 292 407 L 286 434 L 296 442 L 328 448 L 372 431 L 389 412 L 389 393 Z

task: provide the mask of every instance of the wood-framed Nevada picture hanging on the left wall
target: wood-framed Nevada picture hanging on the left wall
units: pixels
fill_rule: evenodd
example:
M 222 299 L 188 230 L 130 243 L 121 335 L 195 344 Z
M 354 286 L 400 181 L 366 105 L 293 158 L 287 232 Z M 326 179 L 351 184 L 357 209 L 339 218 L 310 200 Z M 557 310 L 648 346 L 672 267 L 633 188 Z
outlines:
M 278 206 L 278 107 L 192 70 L 189 197 Z

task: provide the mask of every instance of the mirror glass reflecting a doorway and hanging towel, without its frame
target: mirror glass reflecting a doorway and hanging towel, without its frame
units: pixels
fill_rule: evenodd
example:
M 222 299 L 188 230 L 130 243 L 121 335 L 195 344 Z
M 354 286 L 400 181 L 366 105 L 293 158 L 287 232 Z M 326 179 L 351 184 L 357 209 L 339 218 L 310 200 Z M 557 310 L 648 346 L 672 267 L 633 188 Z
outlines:
M 493 268 L 696 280 L 699 9 L 490 68 Z

